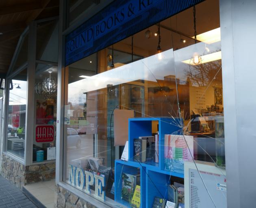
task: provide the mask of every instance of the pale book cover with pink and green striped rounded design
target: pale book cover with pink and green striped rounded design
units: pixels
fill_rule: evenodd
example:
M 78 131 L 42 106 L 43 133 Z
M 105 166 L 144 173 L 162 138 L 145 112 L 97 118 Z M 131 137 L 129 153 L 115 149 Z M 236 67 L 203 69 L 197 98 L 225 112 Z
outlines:
M 184 173 L 184 161 L 193 160 L 193 136 L 165 134 L 165 170 Z

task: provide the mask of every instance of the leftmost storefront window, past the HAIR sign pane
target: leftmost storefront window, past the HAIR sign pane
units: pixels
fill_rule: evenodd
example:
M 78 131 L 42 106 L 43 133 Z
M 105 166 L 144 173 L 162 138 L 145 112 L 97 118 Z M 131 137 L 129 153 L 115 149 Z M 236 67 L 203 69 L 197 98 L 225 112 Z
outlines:
M 9 80 L 7 106 L 7 152 L 24 158 L 26 129 L 27 70 Z

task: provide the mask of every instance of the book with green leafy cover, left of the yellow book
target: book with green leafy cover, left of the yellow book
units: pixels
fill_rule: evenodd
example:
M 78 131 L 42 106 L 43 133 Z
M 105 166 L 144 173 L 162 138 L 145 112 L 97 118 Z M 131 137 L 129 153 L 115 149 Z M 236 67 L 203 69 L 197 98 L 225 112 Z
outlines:
M 122 174 L 122 189 L 121 189 L 121 199 L 129 202 L 132 202 L 132 197 L 136 187 L 137 177 L 130 175 L 128 173 Z

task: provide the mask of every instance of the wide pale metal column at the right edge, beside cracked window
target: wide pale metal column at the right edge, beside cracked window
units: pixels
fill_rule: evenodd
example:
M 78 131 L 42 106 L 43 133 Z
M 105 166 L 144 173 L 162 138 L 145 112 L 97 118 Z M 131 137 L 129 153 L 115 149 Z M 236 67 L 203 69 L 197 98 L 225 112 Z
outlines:
M 256 206 L 256 1 L 220 0 L 228 208 Z

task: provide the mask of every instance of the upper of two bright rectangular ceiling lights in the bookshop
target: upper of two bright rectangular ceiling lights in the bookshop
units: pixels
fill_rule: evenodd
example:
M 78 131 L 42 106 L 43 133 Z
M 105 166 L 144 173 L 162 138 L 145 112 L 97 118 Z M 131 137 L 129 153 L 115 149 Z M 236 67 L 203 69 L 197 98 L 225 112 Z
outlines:
M 192 38 L 195 38 L 192 37 Z M 200 35 L 196 35 L 197 40 L 207 43 L 207 44 L 211 44 L 211 43 L 215 43 L 221 40 L 220 37 L 220 28 L 216 28 L 214 30 L 210 30 L 208 32 L 204 32 Z

